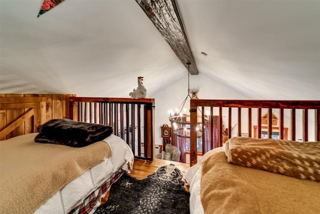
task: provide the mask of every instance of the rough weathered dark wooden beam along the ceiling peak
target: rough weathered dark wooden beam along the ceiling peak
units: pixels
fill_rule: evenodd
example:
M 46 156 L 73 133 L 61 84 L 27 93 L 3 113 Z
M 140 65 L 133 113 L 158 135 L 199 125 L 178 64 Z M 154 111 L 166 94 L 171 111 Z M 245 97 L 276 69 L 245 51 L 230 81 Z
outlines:
M 135 0 L 189 73 L 198 74 L 174 0 Z

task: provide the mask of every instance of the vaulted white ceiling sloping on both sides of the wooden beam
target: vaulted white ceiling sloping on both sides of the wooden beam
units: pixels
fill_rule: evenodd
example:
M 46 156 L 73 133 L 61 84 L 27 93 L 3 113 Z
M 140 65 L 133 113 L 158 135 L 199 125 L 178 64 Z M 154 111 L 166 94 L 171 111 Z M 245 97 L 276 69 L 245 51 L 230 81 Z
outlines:
M 37 18 L 42 2 L 0 0 L 0 93 L 128 97 L 144 76 L 153 97 L 185 77 L 134 0 L 65 0 Z M 205 84 L 320 99 L 320 1 L 176 4 Z

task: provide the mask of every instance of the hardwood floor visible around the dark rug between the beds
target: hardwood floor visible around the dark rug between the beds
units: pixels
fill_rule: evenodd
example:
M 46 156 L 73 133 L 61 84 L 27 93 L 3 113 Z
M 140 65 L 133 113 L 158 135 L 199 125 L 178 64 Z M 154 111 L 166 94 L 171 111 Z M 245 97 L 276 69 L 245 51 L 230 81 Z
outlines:
M 161 160 L 161 159 L 155 159 L 152 162 L 150 161 L 144 161 L 144 160 L 134 160 L 133 163 L 133 169 L 130 170 L 130 176 L 135 177 L 137 179 L 143 179 L 146 178 L 149 174 L 152 174 L 158 167 L 167 165 L 173 163 L 176 167 L 178 167 L 183 175 L 182 180 L 184 180 L 184 174 L 186 170 L 190 167 L 190 164 L 188 163 L 180 163 L 180 162 L 174 162 L 169 160 Z M 184 188 L 189 191 L 189 186 L 184 184 Z M 106 193 L 104 198 L 102 199 L 101 203 L 104 203 L 109 196 L 109 192 Z

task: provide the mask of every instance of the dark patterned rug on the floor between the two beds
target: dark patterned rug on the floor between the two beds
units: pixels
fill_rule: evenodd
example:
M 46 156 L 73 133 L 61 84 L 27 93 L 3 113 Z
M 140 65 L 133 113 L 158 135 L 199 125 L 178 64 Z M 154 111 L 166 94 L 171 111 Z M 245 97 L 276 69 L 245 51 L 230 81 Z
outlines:
M 160 166 L 142 180 L 123 174 L 95 213 L 189 213 L 190 194 L 181 178 L 173 164 Z

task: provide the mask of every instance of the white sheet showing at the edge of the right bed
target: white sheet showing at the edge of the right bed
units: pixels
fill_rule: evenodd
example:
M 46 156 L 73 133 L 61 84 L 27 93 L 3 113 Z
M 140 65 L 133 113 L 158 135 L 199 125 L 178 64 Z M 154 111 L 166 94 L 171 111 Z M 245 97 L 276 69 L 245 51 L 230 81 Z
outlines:
M 223 147 L 215 148 L 202 156 L 201 160 L 204 160 L 208 155 L 215 153 L 215 152 L 224 152 Z M 201 203 L 201 196 L 200 196 L 200 184 L 201 184 L 201 161 L 195 164 L 194 166 L 187 169 L 185 172 L 185 179 L 187 184 L 190 185 L 190 213 L 191 214 L 203 214 L 203 206 Z

